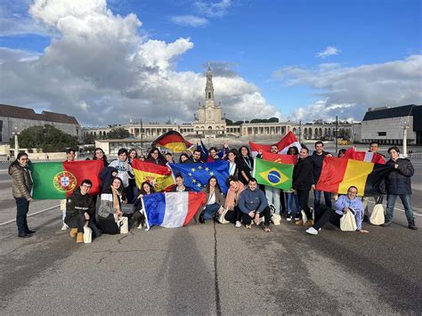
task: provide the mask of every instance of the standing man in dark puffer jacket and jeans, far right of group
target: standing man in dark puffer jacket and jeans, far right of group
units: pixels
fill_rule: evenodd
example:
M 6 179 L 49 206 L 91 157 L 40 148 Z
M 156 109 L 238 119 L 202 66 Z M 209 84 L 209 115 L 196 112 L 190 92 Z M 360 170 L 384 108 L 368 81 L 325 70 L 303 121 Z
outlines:
M 394 205 L 397 197 L 402 199 L 404 214 L 408 220 L 410 230 L 418 230 L 415 225 L 415 217 L 411 207 L 411 182 L 415 170 L 407 158 L 399 158 L 400 150 L 397 147 L 388 149 L 390 160 L 386 165 L 393 166 L 394 169 L 386 177 L 387 207 L 385 209 L 385 223 L 383 227 L 390 226 L 394 216 Z

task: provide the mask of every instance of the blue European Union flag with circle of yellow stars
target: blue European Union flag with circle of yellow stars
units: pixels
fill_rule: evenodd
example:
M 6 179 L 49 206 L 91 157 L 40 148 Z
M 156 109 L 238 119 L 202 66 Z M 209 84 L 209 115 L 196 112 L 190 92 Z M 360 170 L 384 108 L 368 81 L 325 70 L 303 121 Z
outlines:
M 209 178 L 214 175 L 220 185 L 221 190 L 225 194 L 227 188 L 227 178 L 229 177 L 229 162 L 217 160 L 215 162 L 207 162 L 205 164 L 169 164 L 172 168 L 174 176 L 182 174 L 184 185 L 192 190 L 199 191 L 207 186 Z

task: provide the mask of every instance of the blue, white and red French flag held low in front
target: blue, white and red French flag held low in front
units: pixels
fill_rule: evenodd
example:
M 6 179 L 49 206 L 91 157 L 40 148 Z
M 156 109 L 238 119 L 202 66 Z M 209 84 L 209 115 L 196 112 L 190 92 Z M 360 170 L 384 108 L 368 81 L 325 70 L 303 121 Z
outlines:
M 167 228 L 186 226 L 199 207 L 206 202 L 203 192 L 165 192 L 142 197 L 146 231 L 152 226 Z

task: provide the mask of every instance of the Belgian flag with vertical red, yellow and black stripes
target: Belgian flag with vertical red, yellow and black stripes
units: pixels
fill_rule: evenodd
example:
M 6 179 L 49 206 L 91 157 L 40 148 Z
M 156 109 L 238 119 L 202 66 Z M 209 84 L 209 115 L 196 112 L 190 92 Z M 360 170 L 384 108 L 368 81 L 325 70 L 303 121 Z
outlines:
M 361 196 L 384 193 L 383 180 L 391 170 L 392 166 L 325 157 L 316 190 L 346 194 L 349 187 L 355 186 Z

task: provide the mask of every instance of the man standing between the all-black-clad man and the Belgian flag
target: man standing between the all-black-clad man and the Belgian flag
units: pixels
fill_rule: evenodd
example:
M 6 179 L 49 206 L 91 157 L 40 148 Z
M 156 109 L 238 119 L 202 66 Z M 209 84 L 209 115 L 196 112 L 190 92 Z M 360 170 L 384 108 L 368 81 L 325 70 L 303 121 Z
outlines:
M 324 200 L 325 205 L 331 208 L 331 193 L 324 192 L 321 190 L 315 190 L 315 185 L 320 180 L 321 171 L 322 171 L 322 162 L 324 161 L 324 157 L 332 157 L 332 155 L 324 151 L 324 143 L 319 141 L 315 142 L 315 150 L 312 153 L 312 162 L 313 162 L 313 207 L 315 210 L 315 218 L 320 216 L 320 209 L 321 209 L 321 195 L 324 193 Z

